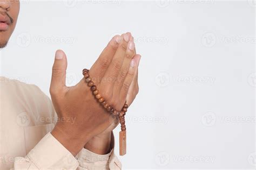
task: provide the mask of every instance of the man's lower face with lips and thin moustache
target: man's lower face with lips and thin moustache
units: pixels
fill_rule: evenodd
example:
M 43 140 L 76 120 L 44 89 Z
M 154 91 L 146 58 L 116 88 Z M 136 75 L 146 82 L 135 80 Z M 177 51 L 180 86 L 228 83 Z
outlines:
M 0 48 L 6 46 L 15 29 L 19 13 L 19 1 L 0 0 L 0 20 L 5 26 L 0 26 Z

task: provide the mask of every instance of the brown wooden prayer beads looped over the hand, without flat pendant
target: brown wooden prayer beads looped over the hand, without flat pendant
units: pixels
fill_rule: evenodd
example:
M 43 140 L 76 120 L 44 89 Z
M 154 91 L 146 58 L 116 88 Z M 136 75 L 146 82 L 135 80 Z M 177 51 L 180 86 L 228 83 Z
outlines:
M 126 131 L 126 126 L 125 126 L 125 115 L 128 109 L 128 104 L 125 102 L 122 111 L 117 111 L 117 109 L 114 109 L 110 104 L 108 104 L 105 99 L 103 98 L 102 95 L 100 95 L 99 90 L 97 89 L 97 87 L 95 86 L 95 83 L 92 81 L 90 75 L 89 75 L 89 69 L 83 69 L 83 75 L 84 75 L 84 79 L 85 82 L 87 83 L 87 85 L 91 88 L 91 91 L 93 93 L 93 95 L 95 95 L 97 101 L 102 104 L 102 106 L 108 111 L 110 112 L 110 114 L 114 115 L 114 116 L 118 116 L 119 117 L 119 121 L 121 124 L 121 131 Z

